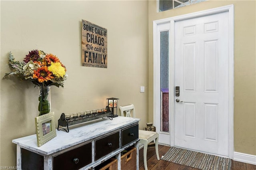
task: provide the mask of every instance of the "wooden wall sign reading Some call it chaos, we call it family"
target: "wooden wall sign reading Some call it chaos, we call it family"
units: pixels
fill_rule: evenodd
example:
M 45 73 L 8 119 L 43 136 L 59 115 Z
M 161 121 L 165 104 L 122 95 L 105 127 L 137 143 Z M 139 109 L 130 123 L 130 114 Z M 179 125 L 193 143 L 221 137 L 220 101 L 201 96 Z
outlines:
M 82 20 L 82 66 L 108 66 L 107 29 Z

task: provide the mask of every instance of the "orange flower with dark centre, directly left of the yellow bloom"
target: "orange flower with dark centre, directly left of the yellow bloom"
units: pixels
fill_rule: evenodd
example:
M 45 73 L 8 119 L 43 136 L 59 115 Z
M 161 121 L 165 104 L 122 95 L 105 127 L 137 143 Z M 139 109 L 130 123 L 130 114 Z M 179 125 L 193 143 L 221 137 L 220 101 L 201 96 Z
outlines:
M 48 71 L 47 67 L 40 67 L 34 70 L 33 79 L 37 79 L 39 83 L 53 79 L 52 73 Z

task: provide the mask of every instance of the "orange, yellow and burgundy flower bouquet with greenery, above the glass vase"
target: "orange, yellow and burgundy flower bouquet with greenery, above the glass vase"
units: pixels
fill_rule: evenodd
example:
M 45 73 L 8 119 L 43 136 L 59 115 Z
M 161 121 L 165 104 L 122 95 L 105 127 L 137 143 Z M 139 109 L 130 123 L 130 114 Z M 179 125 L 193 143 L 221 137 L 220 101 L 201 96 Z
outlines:
M 12 53 L 9 54 L 9 66 L 11 72 L 8 75 L 16 75 L 21 80 L 28 80 L 37 86 L 64 87 L 67 79 L 66 67 L 60 59 L 51 53 L 44 53 L 42 50 L 29 51 L 23 61 L 14 61 Z

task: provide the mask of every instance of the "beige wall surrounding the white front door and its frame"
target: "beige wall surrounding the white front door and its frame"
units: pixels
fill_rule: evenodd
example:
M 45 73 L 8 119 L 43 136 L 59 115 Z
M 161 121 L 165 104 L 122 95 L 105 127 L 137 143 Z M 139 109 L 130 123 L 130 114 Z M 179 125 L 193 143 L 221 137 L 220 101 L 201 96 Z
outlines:
M 191 6 L 156 12 L 149 1 L 149 121 L 153 121 L 152 22 L 201 10 L 234 4 L 234 150 L 256 155 L 256 1 L 209 0 Z

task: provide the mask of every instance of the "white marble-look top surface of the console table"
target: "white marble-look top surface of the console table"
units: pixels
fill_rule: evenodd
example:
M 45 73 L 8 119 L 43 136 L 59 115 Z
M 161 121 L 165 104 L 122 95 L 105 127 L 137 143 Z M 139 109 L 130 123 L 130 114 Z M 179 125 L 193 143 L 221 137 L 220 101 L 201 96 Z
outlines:
M 138 123 L 140 119 L 130 117 L 115 117 L 113 120 L 96 119 L 78 125 L 69 126 L 70 131 L 67 133 L 64 130 L 57 130 L 57 136 L 43 144 L 37 146 L 36 134 L 17 138 L 12 140 L 13 143 L 20 145 L 22 148 L 28 148 L 41 154 L 50 155 L 60 150 L 75 146 L 82 142 L 86 142 L 108 132 L 118 130 L 122 127 Z

